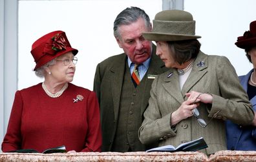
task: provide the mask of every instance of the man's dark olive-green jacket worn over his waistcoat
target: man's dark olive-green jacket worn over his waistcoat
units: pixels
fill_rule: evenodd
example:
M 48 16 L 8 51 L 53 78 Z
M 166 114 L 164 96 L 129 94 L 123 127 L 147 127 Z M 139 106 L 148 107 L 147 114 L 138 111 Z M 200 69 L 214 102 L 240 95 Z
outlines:
M 151 62 L 147 75 L 160 75 L 167 71 L 164 62 L 155 55 L 156 46 L 153 45 Z M 96 67 L 94 77 L 94 91 L 100 102 L 101 130 L 103 137 L 102 151 L 111 151 L 112 142 L 116 134 L 118 113 L 120 109 L 120 96 L 122 93 L 123 75 L 125 73 L 125 64 L 127 64 L 127 55 L 122 53 L 103 60 Z M 146 75 L 144 77 L 147 77 Z M 144 91 L 138 93 L 144 94 L 141 99 L 141 116 L 148 105 L 149 92 L 153 78 L 146 78 Z M 142 121 L 139 121 L 140 124 Z

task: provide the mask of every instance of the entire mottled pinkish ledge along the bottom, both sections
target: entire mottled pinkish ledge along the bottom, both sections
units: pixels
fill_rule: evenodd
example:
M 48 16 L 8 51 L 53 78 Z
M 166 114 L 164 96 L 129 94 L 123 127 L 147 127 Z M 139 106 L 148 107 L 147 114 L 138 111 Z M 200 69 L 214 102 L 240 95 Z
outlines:
M 2 161 L 256 161 L 256 151 L 223 150 L 209 157 L 202 152 L 0 153 Z

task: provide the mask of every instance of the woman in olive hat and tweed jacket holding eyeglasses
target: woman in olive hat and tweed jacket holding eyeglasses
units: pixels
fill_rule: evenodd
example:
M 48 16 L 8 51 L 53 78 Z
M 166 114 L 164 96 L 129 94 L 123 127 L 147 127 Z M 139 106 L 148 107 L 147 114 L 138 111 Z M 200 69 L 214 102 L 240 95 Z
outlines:
M 226 150 L 224 120 L 244 125 L 254 118 L 228 58 L 200 51 L 193 16 L 182 10 L 157 13 L 153 30 L 143 35 L 155 40 L 156 55 L 170 69 L 152 84 L 140 141 L 176 147 L 202 137 L 208 144 L 202 152 Z

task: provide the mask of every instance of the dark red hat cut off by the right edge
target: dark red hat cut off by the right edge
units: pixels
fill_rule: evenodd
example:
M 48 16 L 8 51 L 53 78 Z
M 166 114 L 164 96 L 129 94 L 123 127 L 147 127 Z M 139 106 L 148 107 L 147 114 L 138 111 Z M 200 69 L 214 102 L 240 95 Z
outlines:
M 243 36 L 237 37 L 235 45 L 242 49 L 256 46 L 256 21 L 250 23 L 249 31 L 245 31 Z

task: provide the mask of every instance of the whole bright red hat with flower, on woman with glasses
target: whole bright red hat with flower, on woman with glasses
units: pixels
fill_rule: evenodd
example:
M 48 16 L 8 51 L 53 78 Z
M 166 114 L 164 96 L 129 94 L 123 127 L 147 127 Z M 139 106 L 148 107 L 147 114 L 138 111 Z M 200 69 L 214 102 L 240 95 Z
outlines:
M 72 51 L 73 55 L 78 53 L 78 49 L 71 47 L 64 31 L 52 31 L 43 35 L 32 44 L 31 54 L 36 62 L 34 71 L 69 51 Z

